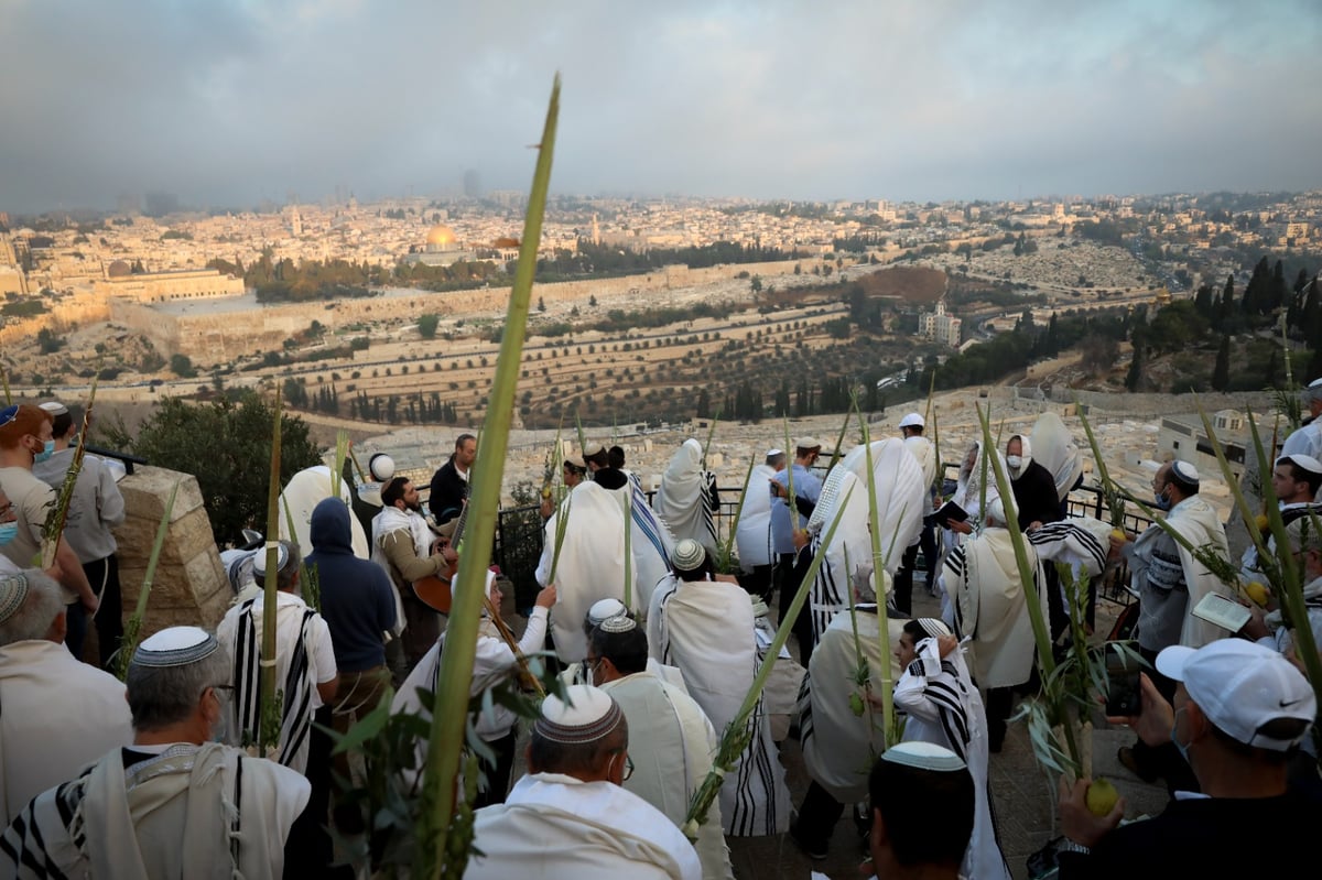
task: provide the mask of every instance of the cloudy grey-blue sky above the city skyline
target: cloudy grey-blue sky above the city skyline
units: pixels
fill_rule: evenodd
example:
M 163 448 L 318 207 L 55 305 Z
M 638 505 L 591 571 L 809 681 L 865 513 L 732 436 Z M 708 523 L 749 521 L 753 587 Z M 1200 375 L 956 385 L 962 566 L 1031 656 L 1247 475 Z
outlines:
M 0 0 L 0 211 L 1322 186 L 1319 0 Z

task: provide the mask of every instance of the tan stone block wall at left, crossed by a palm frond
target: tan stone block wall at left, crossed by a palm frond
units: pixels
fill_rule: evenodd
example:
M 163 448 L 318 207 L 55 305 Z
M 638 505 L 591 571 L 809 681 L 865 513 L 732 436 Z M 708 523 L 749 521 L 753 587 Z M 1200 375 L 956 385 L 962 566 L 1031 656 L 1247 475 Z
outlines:
M 124 618 L 136 606 L 156 529 L 176 482 L 178 494 L 152 577 L 144 637 L 178 625 L 215 629 L 233 599 L 197 478 L 177 470 L 139 465 L 119 482 L 126 518 L 115 530 L 115 539 L 119 542 Z

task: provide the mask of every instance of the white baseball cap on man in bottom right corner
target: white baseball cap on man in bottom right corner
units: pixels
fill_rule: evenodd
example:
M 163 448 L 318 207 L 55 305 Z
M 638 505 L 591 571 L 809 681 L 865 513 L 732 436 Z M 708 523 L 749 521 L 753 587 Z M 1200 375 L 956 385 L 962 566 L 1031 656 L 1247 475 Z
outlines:
M 1307 735 L 1278 740 L 1259 731 L 1277 719 L 1317 717 L 1317 698 L 1300 670 L 1269 647 L 1222 638 L 1203 647 L 1173 645 L 1157 655 L 1157 671 L 1185 683 L 1188 698 L 1232 739 L 1257 749 L 1285 752 Z

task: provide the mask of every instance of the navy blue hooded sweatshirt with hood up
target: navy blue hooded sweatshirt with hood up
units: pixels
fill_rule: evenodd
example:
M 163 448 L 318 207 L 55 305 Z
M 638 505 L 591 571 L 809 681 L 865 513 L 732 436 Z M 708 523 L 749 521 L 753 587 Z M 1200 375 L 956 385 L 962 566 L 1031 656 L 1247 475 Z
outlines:
M 338 498 L 323 499 L 312 511 L 312 552 L 321 589 L 321 617 L 330 628 L 340 673 L 362 673 L 386 662 L 383 633 L 395 625 L 395 596 L 390 576 L 374 562 L 353 555 L 349 507 Z

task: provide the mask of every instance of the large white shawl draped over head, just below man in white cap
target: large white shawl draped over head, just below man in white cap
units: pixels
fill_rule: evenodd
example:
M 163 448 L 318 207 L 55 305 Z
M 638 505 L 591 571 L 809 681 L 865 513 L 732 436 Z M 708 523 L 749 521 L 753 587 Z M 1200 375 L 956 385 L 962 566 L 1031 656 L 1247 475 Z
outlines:
M 853 601 L 851 576 L 859 566 L 873 564 L 873 538 L 869 530 L 869 490 L 876 497 L 880 526 L 880 548 L 884 571 L 891 577 L 900 567 L 904 548 L 923 531 L 925 484 L 923 469 L 903 440 L 888 437 L 873 441 L 873 480 L 867 474 L 867 449 L 850 449 L 826 477 L 822 492 L 808 521 L 808 530 L 825 535 L 837 515 L 839 525 L 826 547 L 809 593 L 809 616 L 814 636 L 830 625 L 832 618 Z M 820 540 L 812 542 L 817 552 Z M 874 571 L 873 589 L 887 580 Z M 880 591 L 884 595 L 883 589 Z

